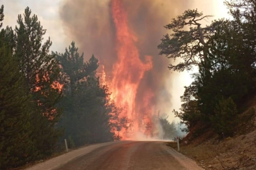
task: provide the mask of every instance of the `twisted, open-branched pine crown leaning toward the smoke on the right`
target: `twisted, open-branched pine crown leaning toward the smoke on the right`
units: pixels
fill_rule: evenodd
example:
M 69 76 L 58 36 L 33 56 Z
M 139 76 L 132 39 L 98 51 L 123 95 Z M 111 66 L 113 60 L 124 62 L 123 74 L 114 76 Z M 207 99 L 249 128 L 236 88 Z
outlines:
M 182 59 L 182 62 L 177 65 L 170 64 L 169 69 L 184 71 L 192 69 L 194 65 L 202 65 L 204 68 L 210 69 L 209 38 L 219 22 L 212 23 L 210 26 L 202 26 L 201 21 L 209 17 L 211 15 L 204 16 L 197 9 L 188 9 L 165 26 L 173 33 L 166 34 L 161 39 L 161 44 L 158 45 L 160 55 L 166 55 L 168 59 L 174 61 L 178 58 Z M 190 26 L 189 31 L 184 30 L 187 26 Z

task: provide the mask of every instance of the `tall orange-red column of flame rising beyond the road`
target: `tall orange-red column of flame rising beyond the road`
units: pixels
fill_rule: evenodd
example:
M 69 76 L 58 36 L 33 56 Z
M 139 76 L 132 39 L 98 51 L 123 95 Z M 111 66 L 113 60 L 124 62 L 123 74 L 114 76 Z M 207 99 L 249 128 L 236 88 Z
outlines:
M 127 13 L 120 0 L 112 0 L 112 17 L 116 29 L 116 51 L 117 62 L 113 65 L 111 98 L 116 105 L 123 108 L 120 116 L 127 116 L 132 120 L 132 127 L 129 133 L 122 129 L 120 135 L 123 139 L 132 138 L 134 132 L 143 132 L 141 125 L 151 123 L 149 113 L 139 113 L 136 108 L 140 103 L 136 103 L 136 94 L 144 73 L 152 67 L 151 56 L 145 56 L 143 62 L 139 57 L 139 50 L 136 47 L 137 37 L 129 28 Z M 153 94 L 145 91 L 144 100 L 148 102 Z M 141 102 L 143 103 L 143 101 Z M 137 105 L 137 106 L 136 106 Z M 149 109 L 149 111 L 151 111 Z

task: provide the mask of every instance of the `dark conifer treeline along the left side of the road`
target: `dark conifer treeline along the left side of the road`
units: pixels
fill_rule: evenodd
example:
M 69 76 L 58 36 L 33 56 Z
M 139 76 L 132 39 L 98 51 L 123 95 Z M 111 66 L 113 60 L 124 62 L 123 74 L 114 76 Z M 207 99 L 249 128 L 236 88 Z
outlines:
M 74 42 L 64 54 L 50 53 L 29 8 L 17 22 L 0 32 L 0 169 L 44 159 L 64 138 L 69 147 L 115 139 L 120 109 L 96 77 L 98 60 L 84 62 Z

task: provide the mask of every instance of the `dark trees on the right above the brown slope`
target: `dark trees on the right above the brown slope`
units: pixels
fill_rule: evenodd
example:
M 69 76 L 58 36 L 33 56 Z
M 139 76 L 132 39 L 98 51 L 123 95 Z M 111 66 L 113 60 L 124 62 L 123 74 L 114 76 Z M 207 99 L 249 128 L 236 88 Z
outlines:
M 256 92 L 256 1 L 225 4 L 232 20 L 214 20 L 203 26 L 211 16 L 189 9 L 165 26 L 172 34 L 165 35 L 158 48 L 161 55 L 181 61 L 169 69 L 199 69 L 192 74 L 194 82 L 185 87 L 182 108 L 174 111 L 186 130 L 201 125 L 228 137 L 242 121 L 243 104 Z M 254 112 L 250 110 L 249 115 Z

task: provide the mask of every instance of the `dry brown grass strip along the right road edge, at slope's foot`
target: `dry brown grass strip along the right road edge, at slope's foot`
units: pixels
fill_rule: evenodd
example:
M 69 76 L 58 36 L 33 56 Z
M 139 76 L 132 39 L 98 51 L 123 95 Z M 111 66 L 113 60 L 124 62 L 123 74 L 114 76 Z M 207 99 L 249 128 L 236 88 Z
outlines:
M 180 144 L 180 152 L 197 161 L 199 166 L 209 170 L 255 170 L 256 131 L 247 135 L 227 138 L 221 142 L 211 139 L 202 144 Z M 177 142 L 169 142 L 177 150 Z

